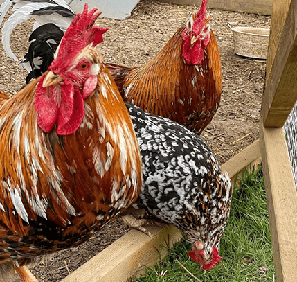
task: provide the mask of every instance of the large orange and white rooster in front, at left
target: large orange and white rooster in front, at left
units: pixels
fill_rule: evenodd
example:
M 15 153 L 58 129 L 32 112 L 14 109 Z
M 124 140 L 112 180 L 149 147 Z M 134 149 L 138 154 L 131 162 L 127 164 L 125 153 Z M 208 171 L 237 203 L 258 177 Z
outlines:
M 48 72 L 0 93 L 0 281 L 13 263 L 83 243 L 141 189 L 132 121 L 94 49 L 99 15 L 86 4 Z

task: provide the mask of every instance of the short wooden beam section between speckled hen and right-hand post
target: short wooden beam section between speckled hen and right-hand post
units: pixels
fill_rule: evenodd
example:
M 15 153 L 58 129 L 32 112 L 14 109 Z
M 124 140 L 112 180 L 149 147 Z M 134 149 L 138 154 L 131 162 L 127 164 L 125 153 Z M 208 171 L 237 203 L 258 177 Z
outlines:
M 234 185 L 236 177 L 240 177 L 245 168 L 248 170 L 250 170 L 250 167 L 253 168 L 253 166 L 257 168 L 261 161 L 260 141 L 258 139 L 232 159 L 226 161 L 222 165 L 222 171 L 228 172 L 232 185 Z

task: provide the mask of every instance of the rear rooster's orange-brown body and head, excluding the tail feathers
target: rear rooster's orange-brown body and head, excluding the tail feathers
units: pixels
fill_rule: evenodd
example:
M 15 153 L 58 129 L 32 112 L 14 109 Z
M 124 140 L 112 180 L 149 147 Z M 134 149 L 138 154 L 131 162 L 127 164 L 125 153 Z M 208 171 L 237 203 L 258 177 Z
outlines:
M 219 107 L 219 48 L 206 17 L 207 0 L 142 67 L 106 64 L 125 101 L 201 134 Z

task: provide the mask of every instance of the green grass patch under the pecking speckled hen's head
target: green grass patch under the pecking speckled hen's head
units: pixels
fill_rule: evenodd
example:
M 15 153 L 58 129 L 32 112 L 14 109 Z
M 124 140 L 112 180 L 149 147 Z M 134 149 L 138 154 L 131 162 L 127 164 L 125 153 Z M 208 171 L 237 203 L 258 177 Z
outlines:
M 185 240 L 169 250 L 153 269 L 147 268 L 137 282 L 190 282 L 192 278 L 175 261 L 179 260 L 202 282 L 275 281 L 267 200 L 262 170 L 245 172 L 234 187 L 231 215 L 221 240 L 222 263 L 201 272 L 188 257 L 191 245 Z M 164 274 L 165 272 L 165 274 Z

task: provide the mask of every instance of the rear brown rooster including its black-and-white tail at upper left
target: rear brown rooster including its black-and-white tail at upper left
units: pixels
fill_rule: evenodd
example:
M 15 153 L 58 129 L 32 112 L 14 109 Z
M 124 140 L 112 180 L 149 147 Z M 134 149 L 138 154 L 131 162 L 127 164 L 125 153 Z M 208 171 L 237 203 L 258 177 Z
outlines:
M 51 4 L 48 1 L 34 1 L 34 6 L 30 1 L 33 0 L 6 0 L 1 6 L 1 17 L 13 3 L 21 6 L 3 26 L 3 46 L 11 58 L 15 57 L 12 57 L 10 50 L 9 35 L 23 18 L 34 16 L 40 23 L 48 23 L 48 14 L 51 14 L 52 24 L 61 31 L 62 28 L 58 27 L 60 18 L 64 17 L 64 23 L 75 15 L 69 6 L 69 12 L 64 12 L 67 4 L 65 2 L 60 6 L 63 0 L 53 0 Z M 127 68 L 106 64 L 125 101 L 134 103 L 145 112 L 170 118 L 197 134 L 201 134 L 213 119 L 222 91 L 219 49 L 215 35 L 210 30 L 206 4 L 207 0 L 203 0 L 199 10 L 190 16 L 187 24 L 179 28 L 159 54 L 144 66 Z M 22 15 L 25 11 L 25 17 L 15 16 L 17 13 Z M 54 15 L 60 17 L 55 19 Z M 21 61 L 30 71 L 27 82 L 46 71 L 53 60 L 53 51 L 49 49 L 57 48 L 57 37 L 60 35 L 51 31 L 55 33 L 53 37 L 48 30 L 48 26 L 42 25 L 30 36 L 33 42 Z M 52 43 L 49 42 L 51 37 L 54 39 Z

